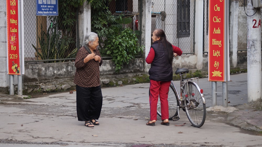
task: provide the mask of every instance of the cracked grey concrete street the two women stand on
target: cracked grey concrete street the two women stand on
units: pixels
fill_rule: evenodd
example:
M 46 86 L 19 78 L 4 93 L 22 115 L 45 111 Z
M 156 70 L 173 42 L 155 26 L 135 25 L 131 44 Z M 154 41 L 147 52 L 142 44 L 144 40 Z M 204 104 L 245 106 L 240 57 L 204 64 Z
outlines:
M 246 79 L 247 73 L 231 76 L 227 108 L 221 106 L 222 94 L 218 106 L 210 107 L 211 83 L 199 79 L 209 107 L 201 128 L 191 126 L 183 111 L 170 126 L 160 125 L 161 119 L 154 127 L 146 126 L 149 83 L 102 88 L 100 125 L 94 128 L 77 121 L 76 92 L 23 100 L 2 95 L 0 146 L 262 146 L 262 111 L 247 104 Z M 220 89 L 222 83 L 217 84 Z

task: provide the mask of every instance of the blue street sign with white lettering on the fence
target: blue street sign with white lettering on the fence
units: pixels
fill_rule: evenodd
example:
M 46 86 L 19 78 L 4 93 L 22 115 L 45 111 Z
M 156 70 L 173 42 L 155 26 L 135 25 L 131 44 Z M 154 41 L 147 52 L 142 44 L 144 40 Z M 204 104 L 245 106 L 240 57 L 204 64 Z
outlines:
M 36 16 L 58 16 L 58 0 L 36 0 Z

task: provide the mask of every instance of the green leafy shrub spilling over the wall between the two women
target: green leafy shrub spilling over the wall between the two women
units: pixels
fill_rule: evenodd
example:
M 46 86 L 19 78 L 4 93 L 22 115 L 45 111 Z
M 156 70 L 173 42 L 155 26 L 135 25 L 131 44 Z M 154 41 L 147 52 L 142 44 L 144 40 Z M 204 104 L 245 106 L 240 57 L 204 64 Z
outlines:
M 116 71 L 123 64 L 129 64 L 143 51 L 138 44 L 138 34 L 130 28 L 124 28 L 124 24 L 132 22 L 131 17 L 124 14 L 112 15 L 109 11 L 108 0 L 92 0 L 91 2 L 91 30 L 99 36 L 99 51 L 101 56 L 110 56 L 116 65 Z

